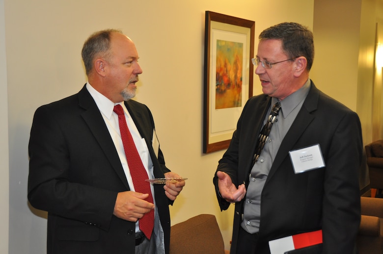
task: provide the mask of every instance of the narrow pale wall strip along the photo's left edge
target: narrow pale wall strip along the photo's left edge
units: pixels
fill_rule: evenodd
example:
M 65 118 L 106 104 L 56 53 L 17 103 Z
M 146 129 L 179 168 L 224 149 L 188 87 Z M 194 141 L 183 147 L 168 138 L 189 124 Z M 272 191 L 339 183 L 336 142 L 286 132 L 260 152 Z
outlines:
M 0 0 L 0 253 L 8 253 L 9 221 L 9 152 L 8 152 L 8 98 L 5 55 L 4 0 Z M 5 219 L 5 220 L 4 220 Z

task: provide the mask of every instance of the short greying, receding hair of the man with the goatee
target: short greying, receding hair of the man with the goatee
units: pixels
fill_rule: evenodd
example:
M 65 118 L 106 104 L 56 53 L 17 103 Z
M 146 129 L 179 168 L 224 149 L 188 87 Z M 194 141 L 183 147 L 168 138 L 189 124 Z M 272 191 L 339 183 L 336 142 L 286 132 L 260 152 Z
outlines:
M 118 29 L 106 29 L 95 32 L 89 36 L 82 46 L 82 61 L 84 62 L 86 75 L 93 69 L 93 61 L 96 57 L 110 57 L 110 37 L 112 33 L 121 33 Z

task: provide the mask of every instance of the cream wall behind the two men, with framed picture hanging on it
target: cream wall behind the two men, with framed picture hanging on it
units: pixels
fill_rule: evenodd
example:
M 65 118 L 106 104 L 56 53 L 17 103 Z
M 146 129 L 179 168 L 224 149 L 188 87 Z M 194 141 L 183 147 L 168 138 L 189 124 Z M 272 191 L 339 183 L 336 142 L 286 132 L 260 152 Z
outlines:
M 264 28 L 284 21 L 312 28 L 313 6 L 314 0 L 5 0 L 7 81 L 5 75 L 0 80 L 8 84 L 9 102 L 9 253 L 46 253 L 46 213 L 27 203 L 33 113 L 81 89 L 86 82 L 82 44 L 90 33 L 110 27 L 121 28 L 136 43 L 143 69 L 136 100 L 152 110 L 167 166 L 189 178 L 170 207 L 172 224 L 215 214 L 228 249 L 233 208 L 219 211 L 212 184 L 223 151 L 202 153 L 205 11 L 255 21 L 257 38 Z M 5 70 L 2 42 L 0 70 Z M 5 85 L 1 91 L 5 96 Z M 260 93 L 257 76 L 254 91 Z M 1 103 L 1 119 L 6 119 L 6 99 Z M 7 173 L 0 174 L 1 188 L 6 188 Z M 7 204 L 6 197 L 1 203 Z M 6 212 L 0 215 L 7 217 Z

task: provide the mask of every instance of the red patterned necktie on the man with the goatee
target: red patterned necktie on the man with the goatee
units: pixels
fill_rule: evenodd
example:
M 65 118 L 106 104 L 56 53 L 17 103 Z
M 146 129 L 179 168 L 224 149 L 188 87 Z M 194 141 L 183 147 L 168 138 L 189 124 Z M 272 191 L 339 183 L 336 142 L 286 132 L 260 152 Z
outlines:
M 141 158 L 139 157 L 132 134 L 126 125 L 124 110 L 120 104 L 117 104 L 114 106 L 113 111 L 118 115 L 118 125 L 120 127 L 122 144 L 124 145 L 126 160 L 128 161 L 129 171 L 132 176 L 135 190 L 140 193 L 148 193 L 149 197 L 146 198 L 146 201 L 153 203 L 150 183 L 145 181 L 145 179 L 148 179 L 148 174 L 146 173 Z M 139 229 L 148 239 L 150 239 L 150 236 L 152 235 L 153 227 L 154 209 L 150 210 L 148 213 L 145 213 L 144 216 L 139 219 Z

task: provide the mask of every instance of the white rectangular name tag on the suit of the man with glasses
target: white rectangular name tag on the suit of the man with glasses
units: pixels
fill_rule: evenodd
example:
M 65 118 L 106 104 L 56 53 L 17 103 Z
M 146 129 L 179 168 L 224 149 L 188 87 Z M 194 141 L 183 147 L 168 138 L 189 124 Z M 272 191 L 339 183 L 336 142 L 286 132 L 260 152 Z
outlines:
M 325 166 L 319 144 L 290 151 L 289 154 L 295 174 Z

